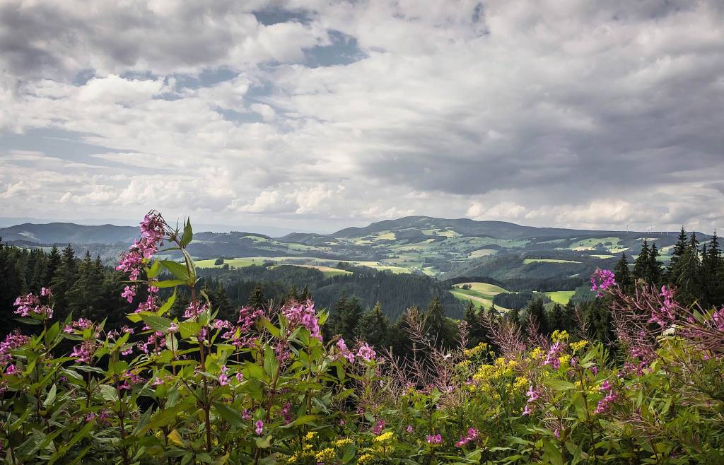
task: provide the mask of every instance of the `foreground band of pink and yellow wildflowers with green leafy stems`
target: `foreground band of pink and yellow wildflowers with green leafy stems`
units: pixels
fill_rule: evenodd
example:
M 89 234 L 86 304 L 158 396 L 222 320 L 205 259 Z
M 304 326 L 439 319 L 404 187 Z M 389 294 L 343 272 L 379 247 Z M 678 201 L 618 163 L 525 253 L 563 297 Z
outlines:
M 197 291 L 187 221 L 156 212 L 122 256 L 127 325 L 53 318 L 18 297 L 0 347 L 9 464 L 724 464 L 724 309 L 675 289 L 605 299 L 615 343 L 585 327 L 488 317 L 490 344 L 436 344 L 408 312 L 412 358 L 323 337 L 311 300 L 216 318 Z M 182 260 L 170 260 L 175 255 Z M 166 257 L 166 259 L 162 258 Z M 181 287 L 191 302 L 170 317 Z

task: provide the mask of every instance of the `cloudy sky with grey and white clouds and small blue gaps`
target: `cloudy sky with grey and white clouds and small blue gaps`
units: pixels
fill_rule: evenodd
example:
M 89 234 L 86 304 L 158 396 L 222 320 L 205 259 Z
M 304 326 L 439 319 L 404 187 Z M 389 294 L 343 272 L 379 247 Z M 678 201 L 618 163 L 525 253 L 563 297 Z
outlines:
M 0 0 L 0 216 L 724 228 L 719 0 Z

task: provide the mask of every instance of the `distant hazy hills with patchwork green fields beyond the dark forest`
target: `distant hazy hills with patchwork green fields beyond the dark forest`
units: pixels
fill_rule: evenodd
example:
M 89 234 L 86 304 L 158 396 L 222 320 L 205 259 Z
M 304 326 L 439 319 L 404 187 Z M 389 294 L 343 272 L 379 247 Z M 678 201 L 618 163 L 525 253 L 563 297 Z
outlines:
M 6 243 L 23 247 L 76 244 L 109 262 L 138 236 L 138 228 L 111 224 L 23 223 L 0 229 Z M 704 234 L 697 237 L 700 241 L 708 239 Z M 274 238 L 240 231 L 197 232 L 189 250 L 202 267 L 221 266 L 216 263 L 219 258 L 230 266 L 274 262 L 330 267 L 344 262 L 441 278 L 581 281 L 599 265 L 611 267 L 621 252 L 635 257 L 644 239 L 657 244 L 660 260 L 666 262 L 676 234 L 536 228 L 503 221 L 407 216 L 332 234 L 292 233 Z

